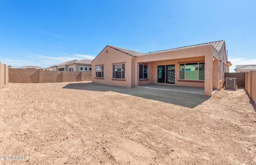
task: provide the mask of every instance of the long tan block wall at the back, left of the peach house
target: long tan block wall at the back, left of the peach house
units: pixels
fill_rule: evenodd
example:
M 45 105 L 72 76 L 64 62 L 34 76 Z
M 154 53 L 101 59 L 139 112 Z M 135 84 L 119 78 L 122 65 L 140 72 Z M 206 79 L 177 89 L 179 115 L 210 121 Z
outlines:
M 42 69 L 9 69 L 10 83 L 54 83 L 92 81 L 92 72 L 43 71 Z

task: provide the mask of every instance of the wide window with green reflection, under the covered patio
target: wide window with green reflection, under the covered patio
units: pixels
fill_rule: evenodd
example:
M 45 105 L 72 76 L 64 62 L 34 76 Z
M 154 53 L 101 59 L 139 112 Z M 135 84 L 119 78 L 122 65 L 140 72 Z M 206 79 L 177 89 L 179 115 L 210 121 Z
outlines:
M 204 62 L 180 64 L 180 80 L 204 80 Z

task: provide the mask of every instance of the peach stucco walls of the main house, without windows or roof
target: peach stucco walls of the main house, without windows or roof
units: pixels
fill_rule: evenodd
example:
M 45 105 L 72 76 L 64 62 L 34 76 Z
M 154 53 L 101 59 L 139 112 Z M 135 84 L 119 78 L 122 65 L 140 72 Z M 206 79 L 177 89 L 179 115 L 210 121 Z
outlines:
M 217 60 L 213 69 L 213 56 Z M 182 62 L 196 62 L 199 59 L 203 59 L 205 62 L 205 80 L 204 83 L 196 81 L 178 81 L 179 79 L 179 60 Z M 123 86 L 138 86 L 146 83 L 157 83 L 157 66 L 175 64 L 176 66 L 176 80 L 175 85 L 182 86 L 194 86 L 204 87 L 206 95 L 212 95 L 212 88 L 220 88 L 220 72 L 219 62 L 226 64 L 226 49 L 225 45 L 222 50 L 218 52 L 212 45 L 173 50 L 169 52 L 158 52 L 155 54 L 149 54 L 146 56 L 132 57 L 128 54 L 115 50 L 106 46 L 102 52 L 92 62 L 92 82 L 106 83 L 111 85 L 123 85 Z M 125 81 L 112 80 L 112 63 L 125 62 Z M 139 80 L 139 64 L 148 63 L 148 81 Z M 153 64 L 152 64 L 153 63 Z M 95 66 L 104 65 L 104 78 L 95 78 Z M 222 64 L 223 65 L 223 64 Z M 152 71 L 150 73 L 150 67 Z M 213 75 L 214 70 L 214 75 Z M 223 70 L 223 67 L 222 67 Z M 150 77 L 150 74 L 152 76 Z M 224 75 L 224 74 L 222 74 Z M 164 83 L 161 83 L 164 84 Z M 214 84 L 214 85 L 213 85 Z M 166 84 L 165 84 L 166 85 Z

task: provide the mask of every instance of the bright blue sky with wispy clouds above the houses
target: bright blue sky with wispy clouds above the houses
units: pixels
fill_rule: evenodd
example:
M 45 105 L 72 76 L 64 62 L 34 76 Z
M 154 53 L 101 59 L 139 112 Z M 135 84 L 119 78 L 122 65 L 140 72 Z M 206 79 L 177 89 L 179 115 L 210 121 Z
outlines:
M 153 52 L 225 40 L 256 64 L 254 0 L 0 0 L 0 62 L 46 68 L 93 59 L 108 44 Z

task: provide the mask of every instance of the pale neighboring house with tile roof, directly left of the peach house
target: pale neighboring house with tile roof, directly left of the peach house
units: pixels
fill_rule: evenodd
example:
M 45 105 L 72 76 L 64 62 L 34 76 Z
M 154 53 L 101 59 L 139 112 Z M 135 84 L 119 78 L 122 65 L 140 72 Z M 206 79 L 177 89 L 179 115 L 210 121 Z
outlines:
M 92 60 L 78 60 L 67 64 L 68 71 L 92 71 Z

